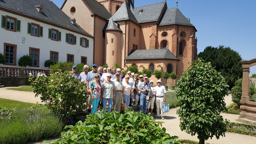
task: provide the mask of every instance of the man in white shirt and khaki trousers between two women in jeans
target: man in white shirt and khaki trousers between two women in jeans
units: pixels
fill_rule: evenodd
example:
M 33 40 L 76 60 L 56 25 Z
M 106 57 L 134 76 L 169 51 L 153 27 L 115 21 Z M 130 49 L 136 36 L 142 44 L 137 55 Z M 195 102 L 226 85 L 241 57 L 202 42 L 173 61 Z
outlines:
M 115 84 L 115 99 L 113 100 L 113 111 L 120 112 L 121 109 L 121 100 L 124 96 L 124 90 L 122 82 L 120 82 L 120 74 L 115 74 L 115 80 L 113 80 Z

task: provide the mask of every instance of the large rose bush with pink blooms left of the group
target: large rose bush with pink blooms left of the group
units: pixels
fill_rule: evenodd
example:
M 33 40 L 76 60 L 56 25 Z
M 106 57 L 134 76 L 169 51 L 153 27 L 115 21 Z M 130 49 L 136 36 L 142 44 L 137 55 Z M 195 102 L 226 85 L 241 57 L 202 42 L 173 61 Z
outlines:
M 89 94 L 86 85 L 70 72 L 56 72 L 50 77 L 38 73 L 35 80 L 32 77 L 29 80 L 35 96 L 41 95 L 42 102 L 48 102 L 47 107 L 53 112 L 68 116 L 86 107 Z

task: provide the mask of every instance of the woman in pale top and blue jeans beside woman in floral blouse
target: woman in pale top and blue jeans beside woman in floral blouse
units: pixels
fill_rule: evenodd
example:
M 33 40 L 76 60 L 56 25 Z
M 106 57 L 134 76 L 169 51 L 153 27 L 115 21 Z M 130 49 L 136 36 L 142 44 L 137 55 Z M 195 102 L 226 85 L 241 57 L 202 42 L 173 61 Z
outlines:
M 107 101 L 109 102 L 108 112 L 112 110 L 113 99 L 115 99 L 115 84 L 111 81 L 112 74 L 107 74 L 107 80 L 102 83 L 101 86 L 101 97 L 103 102 L 103 108 L 107 108 Z M 106 110 L 103 112 L 106 113 Z

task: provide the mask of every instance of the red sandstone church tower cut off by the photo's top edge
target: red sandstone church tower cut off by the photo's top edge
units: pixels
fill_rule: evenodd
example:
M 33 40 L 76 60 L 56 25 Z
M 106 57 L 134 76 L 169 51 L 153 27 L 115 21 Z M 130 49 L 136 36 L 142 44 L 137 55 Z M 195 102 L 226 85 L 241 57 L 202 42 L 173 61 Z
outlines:
M 120 6 L 126 2 L 127 4 L 134 5 L 134 0 L 96 0 L 102 5 L 104 5 L 111 15 L 114 15 L 114 13 L 120 8 Z

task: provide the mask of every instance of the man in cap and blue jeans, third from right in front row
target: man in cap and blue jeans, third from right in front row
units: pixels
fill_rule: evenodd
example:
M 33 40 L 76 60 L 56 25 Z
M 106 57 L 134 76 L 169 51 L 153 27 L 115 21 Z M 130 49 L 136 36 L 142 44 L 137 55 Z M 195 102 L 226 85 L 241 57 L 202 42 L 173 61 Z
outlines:
M 142 82 L 138 88 L 139 91 L 141 92 L 140 111 L 142 111 L 144 114 L 146 114 L 146 109 L 147 109 L 146 96 L 148 95 L 148 90 L 151 89 L 150 84 L 147 81 L 148 81 L 148 78 L 144 77 L 144 82 Z

